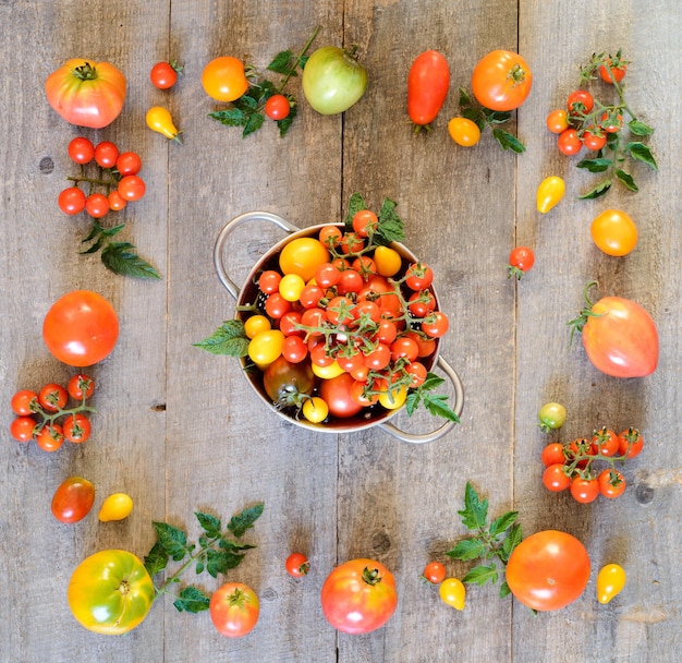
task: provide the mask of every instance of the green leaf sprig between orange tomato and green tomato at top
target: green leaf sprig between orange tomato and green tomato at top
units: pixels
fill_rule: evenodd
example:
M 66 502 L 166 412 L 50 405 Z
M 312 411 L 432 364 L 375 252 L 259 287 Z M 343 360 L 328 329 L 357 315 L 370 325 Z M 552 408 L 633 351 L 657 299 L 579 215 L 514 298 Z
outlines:
M 265 105 L 273 95 L 283 94 L 284 86 L 292 76 L 297 76 L 297 69 L 303 69 L 308 59 L 307 50 L 317 37 L 317 33 L 321 26 L 317 26 L 303 49 L 299 55 L 294 55 L 291 50 L 280 51 L 275 56 L 272 61 L 267 65 L 267 70 L 273 73 L 282 74 L 284 77 L 279 85 L 276 85 L 268 79 L 259 75 L 256 70 L 249 68 L 247 77 L 249 80 L 248 89 L 239 98 L 232 101 L 228 108 L 217 110 L 208 114 L 209 118 L 217 120 L 227 126 L 242 126 L 242 137 L 251 135 L 258 131 L 265 122 Z M 276 120 L 279 128 L 280 136 L 284 136 L 291 128 L 294 118 L 297 114 L 296 98 L 292 94 L 285 94 L 289 101 L 289 114 Z

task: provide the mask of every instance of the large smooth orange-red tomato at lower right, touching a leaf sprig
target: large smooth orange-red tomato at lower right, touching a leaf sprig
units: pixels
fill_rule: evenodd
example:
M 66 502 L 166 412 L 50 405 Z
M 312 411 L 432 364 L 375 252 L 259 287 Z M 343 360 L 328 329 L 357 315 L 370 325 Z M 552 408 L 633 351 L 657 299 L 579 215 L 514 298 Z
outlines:
M 507 564 L 507 583 L 524 605 L 559 610 L 575 601 L 589 580 L 589 556 L 575 537 L 545 530 L 524 539 Z

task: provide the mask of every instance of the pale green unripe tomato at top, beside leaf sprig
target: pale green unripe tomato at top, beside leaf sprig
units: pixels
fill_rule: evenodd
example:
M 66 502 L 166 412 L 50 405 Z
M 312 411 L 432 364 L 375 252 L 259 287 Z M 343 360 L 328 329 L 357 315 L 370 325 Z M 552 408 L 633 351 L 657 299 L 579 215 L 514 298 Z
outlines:
M 365 94 L 367 72 L 349 51 L 322 46 L 305 63 L 302 84 L 308 104 L 324 116 L 333 116 Z

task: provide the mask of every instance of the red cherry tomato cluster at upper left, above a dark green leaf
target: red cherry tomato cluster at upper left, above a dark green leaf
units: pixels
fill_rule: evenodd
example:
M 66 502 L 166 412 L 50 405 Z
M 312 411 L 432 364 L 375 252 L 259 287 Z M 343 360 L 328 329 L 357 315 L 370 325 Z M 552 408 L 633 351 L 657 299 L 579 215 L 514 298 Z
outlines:
M 110 209 L 120 212 L 129 202 L 138 201 L 145 194 L 145 181 L 137 174 L 142 169 L 137 153 L 119 152 L 110 141 L 93 145 L 89 138 L 78 136 L 69 143 L 69 156 L 82 167 L 94 161 L 98 170 L 95 177 L 68 178 L 73 185 L 64 189 L 58 198 L 64 214 L 73 216 L 85 209 L 99 219 Z M 80 184 L 87 184 L 87 194 Z

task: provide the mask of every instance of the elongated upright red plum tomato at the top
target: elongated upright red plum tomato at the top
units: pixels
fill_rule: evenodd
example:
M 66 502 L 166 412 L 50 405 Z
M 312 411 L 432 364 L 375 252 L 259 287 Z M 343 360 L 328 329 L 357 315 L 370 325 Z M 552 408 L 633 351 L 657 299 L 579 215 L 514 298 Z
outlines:
M 416 128 L 430 124 L 450 88 L 450 68 L 437 50 L 419 53 L 407 74 L 407 114 Z

